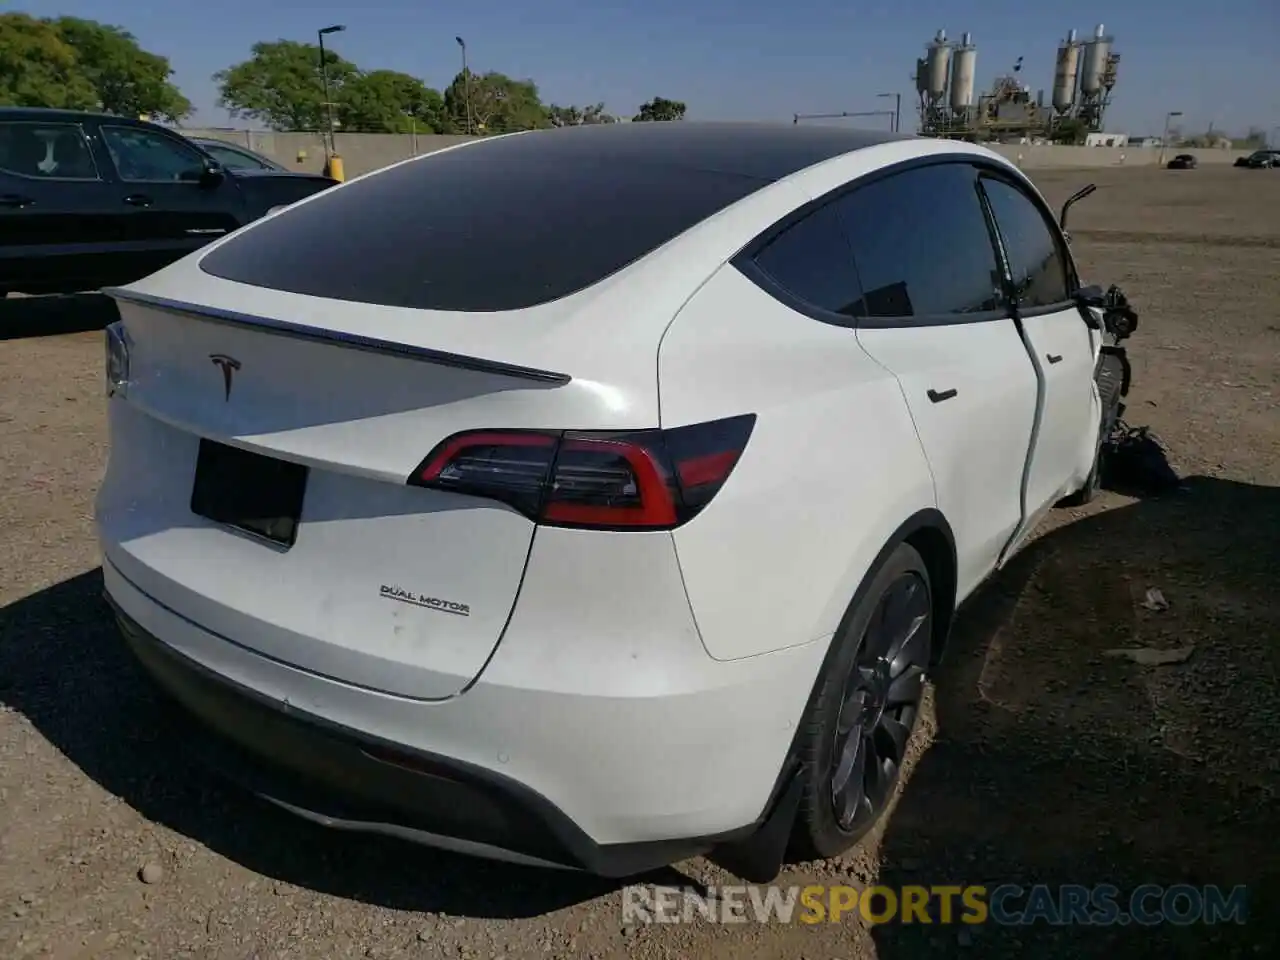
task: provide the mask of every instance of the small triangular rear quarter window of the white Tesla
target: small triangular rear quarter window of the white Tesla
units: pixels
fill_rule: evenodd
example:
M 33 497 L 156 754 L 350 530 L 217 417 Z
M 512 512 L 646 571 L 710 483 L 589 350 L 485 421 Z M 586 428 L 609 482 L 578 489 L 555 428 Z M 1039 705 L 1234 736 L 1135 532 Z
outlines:
M 755 265 L 791 296 L 845 316 L 858 316 L 861 289 L 832 205 L 792 224 L 755 256 Z

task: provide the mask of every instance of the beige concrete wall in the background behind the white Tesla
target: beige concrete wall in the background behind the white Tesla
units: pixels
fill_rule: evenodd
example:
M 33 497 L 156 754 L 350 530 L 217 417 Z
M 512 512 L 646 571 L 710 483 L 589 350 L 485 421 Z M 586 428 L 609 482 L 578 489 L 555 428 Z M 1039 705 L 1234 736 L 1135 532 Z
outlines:
M 324 166 L 324 141 L 317 133 L 262 133 L 257 131 L 189 129 L 183 133 L 192 137 L 211 137 L 238 143 L 260 154 L 266 154 L 276 163 L 293 170 L 319 173 Z M 444 137 L 420 134 L 412 137 L 399 133 L 339 133 L 337 136 L 338 154 L 348 178 L 376 170 L 380 166 L 407 160 L 419 154 L 430 154 L 454 143 L 462 143 L 470 137 Z M 1158 163 L 1160 150 L 1153 147 L 1060 147 L 1060 146 L 997 146 L 996 151 L 1028 169 L 1046 166 L 1147 166 Z M 1202 164 L 1229 164 L 1238 156 L 1245 156 L 1247 150 L 1165 150 L 1167 160 L 1174 154 L 1190 154 Z M 302 159 L 300 160 L 300 155 Z M 1019 160 L 1019 157 L 1021 157 Z

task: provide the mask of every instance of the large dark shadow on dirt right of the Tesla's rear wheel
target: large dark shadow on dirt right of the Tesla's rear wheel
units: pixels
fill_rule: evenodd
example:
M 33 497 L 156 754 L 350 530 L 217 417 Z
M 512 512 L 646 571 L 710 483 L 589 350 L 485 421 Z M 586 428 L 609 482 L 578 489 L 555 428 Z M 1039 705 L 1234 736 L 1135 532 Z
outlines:
M 938 733 L 877 883 L 1248 887 L 1249 920 L 873 928 L 881 960 L 1280 956 L 1280 488 L 1207 477 L 1087 516 L 1016 557 L 957 618 Z M 1149 595 L 1156 588 L 1158 595 Z M 1167 609 L 1162 602 L 1167 602 Z M 1190 646 L 1139 666 L 1107 650 Z M 1188 911 L 1188 901 L 1172 904 Z M 956 902 L 956 916 L 961 910 Z M 1161 895 L 1135 906 L 1158 909 Z M 1021 919 L 1033 920 L 1036 913 Z

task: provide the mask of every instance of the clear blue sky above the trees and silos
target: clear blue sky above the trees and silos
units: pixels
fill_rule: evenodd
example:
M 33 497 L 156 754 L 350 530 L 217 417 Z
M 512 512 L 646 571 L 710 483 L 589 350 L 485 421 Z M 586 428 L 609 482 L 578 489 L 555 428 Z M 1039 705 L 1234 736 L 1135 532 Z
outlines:
M 978 87 L 1025 58 L 1033 90 L 1052 84 L 1066 31 L 1106 23 L 1121 54 L 1107 127 L 1158 133 L 1166 110 L 1187 132 L 1280 124 L 1280 0 L 17 0 L 45 17 L 115 23 L 164 54 L 196 104 L 195 124 L 228 124 L 210 74 L 259 40 L 314 41 L 347 24 L 334 49 L 362 68 L 403 70 L 434 87 L 457 72 L 454 35 L 475 70 L 536 81 L 558 104 L 603 100 L 631 114 L 652 96 L 689 104 L 690 119 L 790 119 L 872 110 L 901 91 L 904 129 L 916 56 L 940 27 L 978 45 Z M 275 8 L 274 10 L 271 8 Z

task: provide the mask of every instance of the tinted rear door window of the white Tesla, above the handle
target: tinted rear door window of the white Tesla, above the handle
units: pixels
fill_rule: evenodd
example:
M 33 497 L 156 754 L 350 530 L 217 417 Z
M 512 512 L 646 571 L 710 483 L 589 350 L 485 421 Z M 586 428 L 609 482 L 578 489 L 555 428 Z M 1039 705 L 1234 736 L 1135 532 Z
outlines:
M 918 166 L 837 201 L 861 279 L 867 317 L 986 314 L 1001 275 L 968 164 Z

